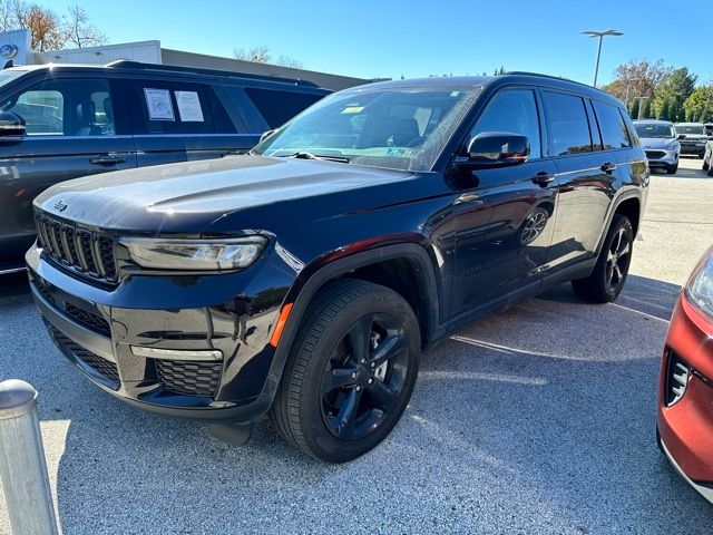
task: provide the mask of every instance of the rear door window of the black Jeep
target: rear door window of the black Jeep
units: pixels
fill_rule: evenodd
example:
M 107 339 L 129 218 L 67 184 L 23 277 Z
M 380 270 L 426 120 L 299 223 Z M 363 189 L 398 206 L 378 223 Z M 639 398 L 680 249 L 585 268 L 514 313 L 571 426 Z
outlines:
M 549 154 L 564 156 L 592 152 L 584 100 L 574 95 L 543 91 L 549 134 Z

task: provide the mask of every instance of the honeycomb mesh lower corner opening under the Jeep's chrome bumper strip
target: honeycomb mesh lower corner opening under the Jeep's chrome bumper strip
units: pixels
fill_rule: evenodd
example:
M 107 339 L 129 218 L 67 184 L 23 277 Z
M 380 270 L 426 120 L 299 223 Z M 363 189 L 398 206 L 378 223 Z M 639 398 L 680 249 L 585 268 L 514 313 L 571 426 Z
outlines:
M 222 362 L 189 362 L 155 359 L 156 376 L 164 390 L 186 396 L 215 397 Z

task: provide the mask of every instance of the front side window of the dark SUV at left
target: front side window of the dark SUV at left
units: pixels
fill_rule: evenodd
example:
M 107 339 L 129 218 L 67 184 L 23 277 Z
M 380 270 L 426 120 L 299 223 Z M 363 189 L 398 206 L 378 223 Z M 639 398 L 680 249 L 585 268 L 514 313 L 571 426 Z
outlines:
M 0 109 L 22 117 L 28 136 L 116 134 L 108 80 L 47 80 L 0 104 Z

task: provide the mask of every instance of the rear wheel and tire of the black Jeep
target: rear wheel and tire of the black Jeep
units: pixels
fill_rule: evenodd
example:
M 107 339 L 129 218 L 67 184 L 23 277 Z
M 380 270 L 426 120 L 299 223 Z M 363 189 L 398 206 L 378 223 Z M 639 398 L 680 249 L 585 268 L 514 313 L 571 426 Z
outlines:
M 595 303 L 614 301 L 624 288 L 632 262 L 633 244 L 632 222 L 622 214 L 614 214 L 592 274 L 586 279 L 572 281 L 575 293 Z

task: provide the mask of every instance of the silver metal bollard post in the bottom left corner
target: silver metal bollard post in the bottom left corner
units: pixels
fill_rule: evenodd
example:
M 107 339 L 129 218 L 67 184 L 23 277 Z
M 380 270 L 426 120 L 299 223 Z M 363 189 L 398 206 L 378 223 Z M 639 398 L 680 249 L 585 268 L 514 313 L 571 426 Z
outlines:
M 16 535 L 58 535 L 37 390 L 17 379 L 0 382 L 0 478 Z

